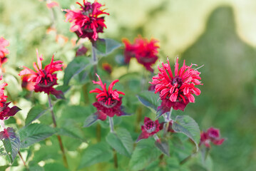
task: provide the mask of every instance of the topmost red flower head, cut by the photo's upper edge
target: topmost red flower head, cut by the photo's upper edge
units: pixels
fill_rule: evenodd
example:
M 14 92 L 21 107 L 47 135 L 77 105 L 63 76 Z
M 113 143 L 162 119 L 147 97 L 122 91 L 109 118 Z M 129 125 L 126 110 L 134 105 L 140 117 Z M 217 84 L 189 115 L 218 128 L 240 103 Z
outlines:
M 93 4 L 86 0 L 83 0 L 83 5 L 76 2 L 76 4 L 81 6 L 81 9 L 66 11 L 66 22 L 73 23 L 71 26 L 71 31 L 75 32 L 80 38 L 89 38 L 91 41 L 96 41 L 98 38 L 98 33 L 103 33 L 103 27 L 106 28 L 104 24 L 104 16 L 98 17 L 101 14 L 109 15 L 104 12 L 105 9 L 101 10 L 101 4 L 94 1 Z

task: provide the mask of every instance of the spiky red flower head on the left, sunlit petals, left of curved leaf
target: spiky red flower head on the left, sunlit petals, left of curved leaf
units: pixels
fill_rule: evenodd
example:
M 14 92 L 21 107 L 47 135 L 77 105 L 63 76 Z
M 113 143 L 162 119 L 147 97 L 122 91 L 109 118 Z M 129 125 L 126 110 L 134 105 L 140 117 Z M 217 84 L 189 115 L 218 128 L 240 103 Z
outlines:
M 62 71 L 63 62 L 62 61 L 53 61 L 53 57 L 51 58 L 51 63 L 42 68 L 43 61 L 42 55 L 39 56 L 39 52 L 36 50 L 37 56 L 37 65 L 33 63 L 34 69 L 33 71 L 26 66 L 23 66 L 25 69 L 19 73 L 19 76 L 26 77 L 26 81 L 34 83 L 34 91 L 35 92 L 44 92 L 47 94 L 53 94 L 56 98 L 61 98 L 63 93 L 61 90 L 56 90 L 53 86 L 58 85 L 57 83 L 57 75 L 56 71 Z

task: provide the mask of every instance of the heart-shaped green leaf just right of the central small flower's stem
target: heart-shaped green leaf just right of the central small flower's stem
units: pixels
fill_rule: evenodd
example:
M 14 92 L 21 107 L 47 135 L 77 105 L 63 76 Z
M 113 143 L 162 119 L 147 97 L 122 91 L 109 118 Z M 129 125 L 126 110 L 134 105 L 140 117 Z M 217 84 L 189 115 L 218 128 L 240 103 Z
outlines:
M 116 133 L 108 133 L 106 141 L 121 155 L 130 157 L 133 152 L 133 139 L 124 128 L 118 129 Z

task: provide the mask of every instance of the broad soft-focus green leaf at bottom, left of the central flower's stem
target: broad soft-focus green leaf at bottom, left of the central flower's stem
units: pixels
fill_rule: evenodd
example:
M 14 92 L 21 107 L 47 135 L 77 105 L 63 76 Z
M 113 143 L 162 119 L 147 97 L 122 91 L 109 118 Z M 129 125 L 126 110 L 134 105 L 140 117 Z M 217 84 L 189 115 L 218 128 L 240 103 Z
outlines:
M 78 169 L 94 165 L 98 162 L 108 162 L 111 158 L 111 149 L 105 142 L 99 142 L 96 145 L 89 145 L 83 152 Z

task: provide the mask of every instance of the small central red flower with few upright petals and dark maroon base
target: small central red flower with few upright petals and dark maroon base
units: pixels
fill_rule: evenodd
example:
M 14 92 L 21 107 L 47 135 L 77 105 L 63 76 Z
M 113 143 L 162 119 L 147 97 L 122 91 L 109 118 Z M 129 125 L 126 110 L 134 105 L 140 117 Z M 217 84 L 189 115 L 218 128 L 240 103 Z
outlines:
M 99 81 L 93 81 L 93 83 L 100 85 L 102 90 L 100 88 L 95 88 L 95 90 L 91 90 L 90 93 L 98 93 L 98 95 L 96 95 L 97 102 L 93 103 L 94 107 L 98 110 L 96 113 L 96 115 L 98 115 L 98 119 L 106 120 L 107 115 L 109 117 L 113 117 L 114 115 L 125 115 L 121 110 L 122 98 L 119 97 L 120 94 L 125 95 L 125 93 L 113 90 L 113 86 L 118 82 L 118 80 L 113 81 L 107 89 L 106 83 L 102 83 L 98 74 L 96 74 L 96 76 Z

